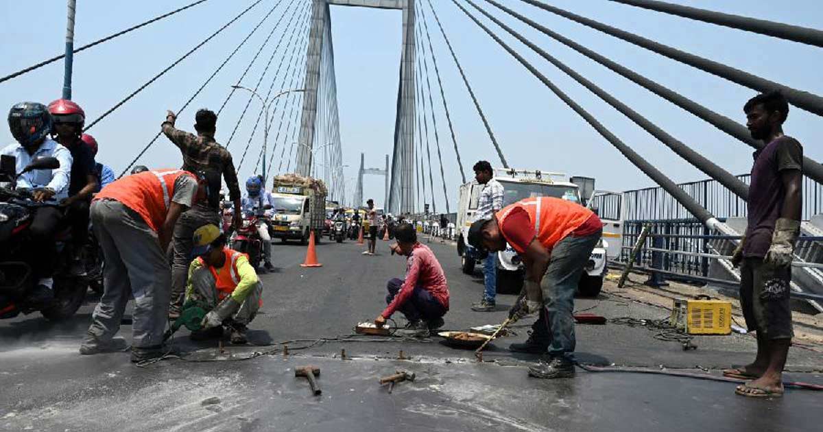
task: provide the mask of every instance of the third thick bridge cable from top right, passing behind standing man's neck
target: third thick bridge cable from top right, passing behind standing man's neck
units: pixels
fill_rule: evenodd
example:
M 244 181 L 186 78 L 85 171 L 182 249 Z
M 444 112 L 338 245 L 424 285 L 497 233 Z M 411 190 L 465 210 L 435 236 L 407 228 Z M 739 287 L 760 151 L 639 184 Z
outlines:
M 535 30 L 542 32 L 543 34 L 551 37 L 552 39 L 556 39 L 561 44 L 565 44 L 571 49 L 574 49 L 578 53 L 583 54 L 584 56 L 591 58 L 597 63 L 600 63 L 602 66 L 605 66 L 611 69 L 612 72 L 621 75 L 621 77 L 625 77 L 626 79 L 635 82 L 635 84 L 644 87 L 646 90 L 651 91 L 655 95 L 662 97 L 663 99 L 671 102 L 674 105 L 677 105 L 681 109 L 685 109 L 690 114 L 695 115 L 698 118 L 701 118 L 705 122 L 713 125 L 715 128 L 726 132 L 729 136 L 737 138 L 737 140 L 746 143 L 747 145 L 760 150 L 765 146 L 763 142 L 757 141 L 751 137 L 751 133 L 749 130 L 740 123 L 735 122 L 731 118 L 724 116 L 723 114 L 718 114 L 711 109 L 704 107 L 696 103 L 693 100 L 690 100 L 684 95 L 677 93 L 676 91 L 672 91 L 671 89 L 661 86 L 655 81 L 650 80 L 643 75 L 632 71 L 628 67 L 622 66 L 620 63 L 616 63 L 609 58 L 606 58 L 600 53 L 596 53 L 591 49 L 584 47 L 574 40 L 566 38 L 563 35 L 552 31 L 545 26 L 541 26 L 537 24 L 535 21 L 528 19 L 528 17 L 518 14 L 513 10 L 509 9 L 509 7 L 504 7 L 499 2 L 495 0 L 486 0 L 486 2 L 491 3 L 495 7 L 499 8 L 503 12 L 508 13 L 511 16 L 514 16 L 520 21 L 532 26 Z M 808 156 L 803 156 L 803 174 L 806 174 L 809 178 L 816 180 L 819 183 L 823 183 L 823 165 L 821 165 L 816 160 L 812 160 Z

